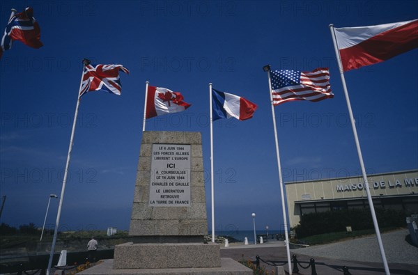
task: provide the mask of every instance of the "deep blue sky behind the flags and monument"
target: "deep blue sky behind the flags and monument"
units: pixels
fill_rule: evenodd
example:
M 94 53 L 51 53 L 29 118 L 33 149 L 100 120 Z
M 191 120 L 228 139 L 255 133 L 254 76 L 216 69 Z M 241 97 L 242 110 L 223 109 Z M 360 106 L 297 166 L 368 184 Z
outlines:
M 208 83 L 258 104 L 247 121 L 217 120 L 217 230 L 282 224 L 268 79 L 273 69 L 330 67 L 334 99 L 275 107 L 284 180 L 359 175 L 353 132 L 328 25 L 418 18 L 417 1 L 1 1 L 33 6 L 44 47 L 15 42 L 0 61 L 1 222 L 42 226 L 60 195 L 82 58 L 120 63 L 120 97 L 83 97 L 61 230 L 127 229 L 141 143 L 145 81 L 180 91 L 192 107 L 147 120 L 147 130 L 203 137 L 210 226 Z M 418 168 L 418 51 L 346 72 L 366 171 Z M 53 227 L 58 201 L 47 226 Z M 281 226 L 280 226 L 281 227 Z

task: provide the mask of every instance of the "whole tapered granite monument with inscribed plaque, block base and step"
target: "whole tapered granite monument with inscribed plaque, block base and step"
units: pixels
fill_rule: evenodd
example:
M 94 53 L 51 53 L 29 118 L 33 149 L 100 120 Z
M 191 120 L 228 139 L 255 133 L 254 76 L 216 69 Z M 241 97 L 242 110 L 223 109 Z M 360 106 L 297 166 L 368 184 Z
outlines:
M 130 221 L 132 242 L 82 274 L 252 274 L 208 234 L 199 132 L 143 132 Z M 93 269 L 96 269 L 94 271 Z

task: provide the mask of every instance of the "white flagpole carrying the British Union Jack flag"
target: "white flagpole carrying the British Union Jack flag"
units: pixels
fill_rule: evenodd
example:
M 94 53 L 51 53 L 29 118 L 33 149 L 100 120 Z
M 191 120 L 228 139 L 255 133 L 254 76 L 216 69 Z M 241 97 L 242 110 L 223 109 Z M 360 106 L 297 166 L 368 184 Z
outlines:
M 90 61 L 88 61 L 87 59 L 83 59 L 82 80 L 80 81 L 79 92 L 82 90 L 83 76 L 84 76 L 84 68 L 86 68 L 86 65 L 88 65 L 89 63 L 90 63 Z M 49 262 L 48 262 L 47 275 L 49 275 L 49 272 L 51 272 L 52 259 L 54 258 L 54 251 L 55 251 L 55 244 L 56 244 L 56 236 L 58 235 L 59 219 L 61 217 L 61 209 L 63 207 L 65 184 L 67 184 L 68 167 L 70 166 L 72 143 L 74 141 L 74 132 L 75 132 L 75 125 L 77 124 L 77 116 L 78 116 L 79 105 L 80 105 L 80 94 L 78 94 L 78 97 L 77 97 L 77 105 L 75 107 L 74 121 L 72 122 L 72 132 L 71 132 L 71 137 L 70 137 L 70 146 L 68 146 L 67 163 L 65 164 L 63 187 L 61 189 L 61 196 L 59 197 L 59 207 L 58 207 L 58 213 L 56 214 L 54 237 L 52 238 L 51 253 L 49 254 Z

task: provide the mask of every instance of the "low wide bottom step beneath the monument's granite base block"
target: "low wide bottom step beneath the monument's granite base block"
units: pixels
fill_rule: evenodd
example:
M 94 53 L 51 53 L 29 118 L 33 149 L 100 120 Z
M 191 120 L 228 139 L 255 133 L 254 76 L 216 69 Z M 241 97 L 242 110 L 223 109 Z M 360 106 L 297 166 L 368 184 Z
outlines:
M 114 260 L 102 260 L 102 263 L 90 267 L 80 275 L 252 275 L 253 271 L 231 258 L 221 258 L 221 267 L 204 268 L 167 268 L 167 269 L 114 269 Z

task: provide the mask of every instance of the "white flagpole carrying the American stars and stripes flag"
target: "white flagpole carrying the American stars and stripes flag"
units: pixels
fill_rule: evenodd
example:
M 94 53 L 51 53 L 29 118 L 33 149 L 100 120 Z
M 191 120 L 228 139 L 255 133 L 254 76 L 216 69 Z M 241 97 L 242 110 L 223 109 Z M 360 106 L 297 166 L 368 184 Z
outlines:
M 281 178 L 281 164 L 280 164 L 280 154 L 279 154 L 279 141 L 277 139 L 276 116 L 274 114 L 274 104 L 273 104 L 273 95 L 272 95 L 272 80 L 270 78 L 270 65 L 268 65 L 267 74 L 268 74 L 268 88 L 270 90 L 270 102 L 272 104 L 272 116 L 273 116 L 273 125 L 274 125 L 274 140 L 276 141 L 277 168 L 279 170 L 279 184 L 280 184 L 280 195 L 281 195 L 281 209 L 283 211 L 283 222 L 284 222 L 284 236 L 285 236 L 285 239 L 286 239 L 286 252 L 287 252 L 287 257 L 288 257 L 289 274 L 292 275 L 291 251 L 289 249 L 289 236 L 288 236 L 288 230 L 287 230 L 286 203 L 284 201 L 283 179 Z

